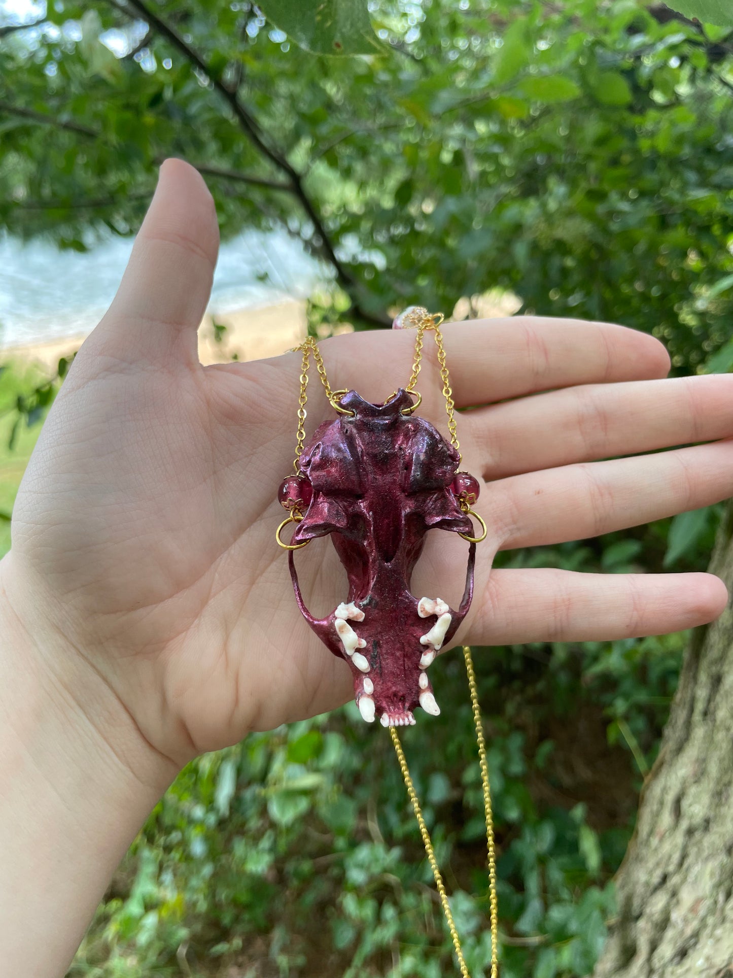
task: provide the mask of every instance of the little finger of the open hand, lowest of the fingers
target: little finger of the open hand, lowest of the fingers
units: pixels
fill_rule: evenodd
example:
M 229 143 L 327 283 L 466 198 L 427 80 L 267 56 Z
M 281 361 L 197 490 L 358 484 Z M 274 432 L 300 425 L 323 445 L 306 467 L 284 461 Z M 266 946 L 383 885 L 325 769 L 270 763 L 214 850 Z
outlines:
M 493 570 L 465 642 L 593 642 L 663 635 L 712 621 L 727 591 L 713 574 Z

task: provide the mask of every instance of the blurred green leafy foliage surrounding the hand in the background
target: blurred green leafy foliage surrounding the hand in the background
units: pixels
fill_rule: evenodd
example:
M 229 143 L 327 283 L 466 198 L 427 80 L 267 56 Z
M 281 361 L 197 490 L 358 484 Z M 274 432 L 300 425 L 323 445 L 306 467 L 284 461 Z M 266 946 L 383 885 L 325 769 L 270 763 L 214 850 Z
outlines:
M 264 3 L 268 22 L 246 2 L 65 2 L 29 31 L 0 28 L 2 225 L 80 250 L 132 233 L 157 162 L 185 156 L 224 235 L 284 225 L 323 259 L 321 333 L 511 289 L 528 312 L 655 333 L 677 373 L 733 366 L 724 28 L 639 0 L 372 0 L 381 50 L 337 58 L 291 43 L 279 8 Z M 341 23 L 333 37 L 371 49 Z M 109 52 L 109 30 L 128 56 Z M 0 510 L 17 481 L 8 459 L 29 450 L 52 396 L 42 378 L 0 377 L 17 443 L 0 459 Z M 500 559 L 703 569 L 716 518 Z M 592 970 L 683 644 L 477 651 L 504 978 Z M 434 668 L 443 715 L 407 731 L 406 750 L 479 975 L 479 769 L 462 663 Z M 199 759 L 151 815 L 69 974 L 453 973 L 406 801 L 391 745 L 353 707 Z

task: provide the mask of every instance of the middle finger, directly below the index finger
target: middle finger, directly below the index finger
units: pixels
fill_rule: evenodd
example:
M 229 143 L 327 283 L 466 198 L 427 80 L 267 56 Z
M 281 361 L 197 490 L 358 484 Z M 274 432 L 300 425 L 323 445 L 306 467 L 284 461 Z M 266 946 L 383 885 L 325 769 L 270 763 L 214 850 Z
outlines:
M 733 375 L 587 384 L 468 412 L 485 479 L 733 434 Z

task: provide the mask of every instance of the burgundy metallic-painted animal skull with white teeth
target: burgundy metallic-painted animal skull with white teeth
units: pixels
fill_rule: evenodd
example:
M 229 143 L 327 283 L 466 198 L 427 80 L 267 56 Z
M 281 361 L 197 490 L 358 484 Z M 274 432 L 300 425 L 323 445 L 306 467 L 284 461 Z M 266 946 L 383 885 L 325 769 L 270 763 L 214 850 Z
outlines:
M 418 704 L 440 713 L 425 670 L 470 607 L 476 545 L 469 546 L 457 610 L 439 598 L 414 598 L 412 570 L 428 530 L 473 535 L 465 499 L 475 498 L 478 483 L 467 473 L 456 477 L 457 451 L 432 424 L 410 415 L 407 391 L 369 404 L 351 390 L 340 404 L 351 414 L 324 422 L 300 456 L 313 494 L 292 543 L 330 534 L 346 570 L 348 597 L 327 617 L 314 618 L 292 551 L 290 575 L 308 624 L 349 663 L 364 719 L 376 714 L 385 727 L 413 724 Z

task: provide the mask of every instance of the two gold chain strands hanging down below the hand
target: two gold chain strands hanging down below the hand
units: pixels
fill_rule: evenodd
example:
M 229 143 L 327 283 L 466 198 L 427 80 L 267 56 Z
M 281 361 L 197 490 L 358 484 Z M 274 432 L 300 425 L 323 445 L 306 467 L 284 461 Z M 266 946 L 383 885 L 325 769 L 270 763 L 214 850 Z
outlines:
M 484 814 L 486 816 L 486 839 L 487 839 L 487 849 L 488 849 L 488 863 L 489 863 L 489 905 L 490 905 L 490 919 L 491 919 L 491 930 L 492 930 L 492 972 L 491 978 L 498 978 L 498 899 L 496 897 L 496 845 L 494 841 L 494 812 L 492 810 L 492 789 L 489 781 L 489 764 L 486 759 L 486 738 L 484 737 L 484 725 L 481 720 L 481 706 L 479 704 L 479 694 L 476 687 L 476 674 L 473 669 L 473 658 L 471 657 L 471 649 L 468 645 L 463 645 L 463 657 L 466 663 L 466 673 L 468 674 L 468 688 L 471 691 L 471 707 L 473 709 L 473 720 L 476 725 L 476 740 L 479 747 L 479 765 L 481 767 L 481 784 L 484 790 Z M 438 889 L 438 893 L 441 898 L 441 905 L 443 907 L 443 912 L 446 915 L 446 922 L 448 923 L 448 929 L 451 931 L 451 937 L 453 939 L 453 948 L 455 949 L 455 956 L 458 959 L 458 967 L 460 968 L 460 973 L 462 978 L 470 978 L 468 973 L 468 968 L 466 967 L 465 958 L 463 957 L 463 952 L 460 948 L 460 940 L 458 938 L 458 932 L 455 929 L 455 921 L 453 920 L 453 913 L 451 912 L 451 905 L 448 902 L 448 896 L 446 894 L 446 887 L 443 882 L 443 876 L 441 875 L 440 868 L 435 858 L 435 851 L 433 850 L 433 843 L 430 840 L 430 833 L 428 832 L 427 825 L 422 816 L 422 810 L 420 809 L 420 803 L 417 800 L 417 794 L 414 789 L 414 784 L 412 783 L 412 778 L 410 777 L 410 769 L 408 768 L 408 762 L 405 759 L 405 751 L 402 749 L 402 744 L 400 743 L 400 737 L 394 727 L 390 727 L 390 736 L 392 737 L 392 743 L 395 745 L 395 751 L 397 752 L 397 760 L 400 763 L 400 770 L 402 771 L 402 777 L 405 780 L 405 786 L 408 789 L 408 794 L 410 796 L 410 801 L 412 803 L 412 809 L 414 810 L 415 818 L 417 819 L 417 825 L 420 829 L 420 835 L 422 836 L 422 843 L 425 846 L 425 854 L 428 858 L 428 863 L 433 870 L 433 876 L 435 877 L 435 885 Z

